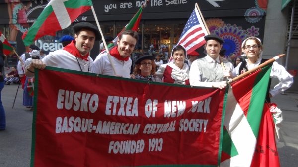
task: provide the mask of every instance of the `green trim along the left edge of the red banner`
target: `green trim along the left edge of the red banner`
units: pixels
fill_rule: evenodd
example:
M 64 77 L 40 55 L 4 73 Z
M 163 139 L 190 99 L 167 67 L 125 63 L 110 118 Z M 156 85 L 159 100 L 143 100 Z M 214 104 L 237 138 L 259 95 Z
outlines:
M 37 115 L 37 99 L 38 99 L 38 72 L 34 71 L 34 100 L 33 100 L 33 120 L 32 120 L 32 143 L 31 143 L 31 162 L 30 167 L 34 167 L 34 157 L 35 157 L 35 138 L 36 138 L 36 115 Z

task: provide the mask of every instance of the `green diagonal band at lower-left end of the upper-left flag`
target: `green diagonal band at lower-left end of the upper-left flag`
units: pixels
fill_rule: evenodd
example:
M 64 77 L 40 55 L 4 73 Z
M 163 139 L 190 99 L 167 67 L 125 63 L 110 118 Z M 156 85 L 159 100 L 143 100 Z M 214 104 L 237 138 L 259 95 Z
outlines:
M 53 12 L 52 6 L 46 7 L 38 16 L 34 24 L 29 28 L 27 31 L 26 37 L 23 39 L 25 46 L 29 46 L 33 41 L 34 38 L 41 27 L 41 25 L 45 22 L 45 20 L 49 17 L 49 15 Z

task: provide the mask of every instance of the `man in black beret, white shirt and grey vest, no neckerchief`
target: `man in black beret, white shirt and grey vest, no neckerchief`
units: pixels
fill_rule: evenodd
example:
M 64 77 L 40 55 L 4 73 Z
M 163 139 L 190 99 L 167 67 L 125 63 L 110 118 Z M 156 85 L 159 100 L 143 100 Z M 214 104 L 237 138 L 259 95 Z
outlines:
M 223 89 L 227 86 L 227 78 L 236 76 L 234 66 L 228 61 L 223 61 L 225 70 L 221 66 L 219 53 L 224 43 L 221 37 L 210 34 L 204 38 L 207 56 L 192 63 L 189 71 L 190 85 Z

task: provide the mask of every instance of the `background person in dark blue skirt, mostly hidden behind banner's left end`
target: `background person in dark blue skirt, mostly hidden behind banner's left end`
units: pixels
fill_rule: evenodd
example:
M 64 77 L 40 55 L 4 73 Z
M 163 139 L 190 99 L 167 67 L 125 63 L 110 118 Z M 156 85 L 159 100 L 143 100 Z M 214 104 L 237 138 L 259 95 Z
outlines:
M 39 59 L 39 51 L 32 50 L 30 52 L 30 56 L 31 56 L 31 58 L 28 58 L 25 61 L 24 66 L 28 66 L 33 59 Z M 34 96 L 30 96 L 29 95 L 29 92 L 28 92 L 28 80 L 29 79 L 30 78 L 26 77 L 25 83 L 24 83 L 23 106 L 25 106 L 26 108 L 30 108 L 31 107 L 30 111 L 33 111 L 33 99 L 34 99 Z

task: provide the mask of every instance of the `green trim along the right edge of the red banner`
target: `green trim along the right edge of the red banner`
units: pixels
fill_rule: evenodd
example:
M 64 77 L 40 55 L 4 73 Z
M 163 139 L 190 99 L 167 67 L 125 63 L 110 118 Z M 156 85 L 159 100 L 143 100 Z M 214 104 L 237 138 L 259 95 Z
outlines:
M 218 156 L 218 165 L 219 166 L 221 165 L 222 149 L 224 147 L 223 146 L 223 140 L 224 140 L 223 139 L 223 135 L 224 135 L 224 116 L 225 116 L 226 102 L 227 102 L 227 96 L 228 96 L 228 89 L 229 89 L 229 85 L 226 87 L 225 93 L 224 93 L 224 106 L 223 106 L 222 120 L 221 120 L 220 145 L 219 145 L 219 156 Z M 229 134 L 228 134 L 228 136 L 229 136 Z M 226 140 L 224 140 L 224 141 L 226 141 Z

